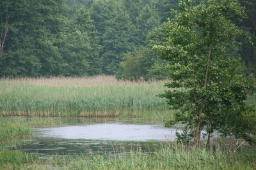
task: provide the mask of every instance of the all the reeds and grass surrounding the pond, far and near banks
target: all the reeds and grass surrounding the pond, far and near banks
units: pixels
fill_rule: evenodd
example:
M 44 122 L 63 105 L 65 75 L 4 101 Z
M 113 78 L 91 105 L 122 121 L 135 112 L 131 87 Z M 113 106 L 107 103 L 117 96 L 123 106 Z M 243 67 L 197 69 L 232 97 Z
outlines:
M 108 80 L 111 80 L 108 81 Z M 89 83 L 88 83 L 89 82 Z M 31 135 L 31 127 L 60 125 L 60 119 L 40 117 L 132 116 L 163 120 L 173 116 L 157 94 L 166 90 L 164 82 L 119 82 L 113 77 L 0 80 L 0 169 L 256 169 L 255 146 L 243 145 L 236 153 L 232 145 L 184 148 L 163 145 L 154 153 L 141 150 L 118 155 L 56 156 L 41 160 L 36 155 L 6 149 L 15 136 Z M 254 104 L 255 96 L 248 99 Z M 236 145 L 234 145 L 236 146 Z M 106 155 L 106 154 L 105 154 Z

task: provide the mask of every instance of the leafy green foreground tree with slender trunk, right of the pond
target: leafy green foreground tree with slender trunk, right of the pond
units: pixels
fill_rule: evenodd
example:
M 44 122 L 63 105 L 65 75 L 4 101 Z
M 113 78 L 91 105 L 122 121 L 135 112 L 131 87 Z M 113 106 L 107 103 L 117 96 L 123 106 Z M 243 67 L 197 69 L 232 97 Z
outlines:
M 174 120 L 166 126 L 183 122 L 191 129 L 194 147 L 200 145 L 205 127 L 209 142 L 213 131 L 235 134 L 234 124 L 248 113 L 244 102 L 255 92 L 255 83 L 241 71 L 237 57 L 227 58 L 228 46 L 236 43 L 243 31 L 232 22 L 245 14 L 237 0 L 207 0 L 195 6 L 195 1 L 180 1 L 180 11 L 165 25 L 164 45 L 154 48 L 168 60 L 172 82 L 161 97 L 177 110 Z M 241 127 L 241 126 L 239 126 Z M 250 134 L 250 129 L 239 131 Z M 227 132 L 227 133 L 226 133 Z M 249 135 L 250 136 L 250 135 Z

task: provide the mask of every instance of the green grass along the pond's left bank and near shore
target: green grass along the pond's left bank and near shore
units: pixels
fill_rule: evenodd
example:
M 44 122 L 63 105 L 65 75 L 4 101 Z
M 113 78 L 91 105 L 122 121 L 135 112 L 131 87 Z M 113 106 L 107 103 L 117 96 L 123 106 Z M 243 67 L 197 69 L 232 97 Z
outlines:
M 139 148 L 136 152 L 118 155 L 56 156 L 51 160 L 4 147 L 15 136 L 31 134 L 31 127 L 58 124 L 60 122 L 53 118 L 0 117 L 0 169 L 256 169 L 255 147 L 243 145 L 234 153 L 226 141 L 216 145 L 213 153 L 204 148 L 192 150 L 166 143 L 154 153 L 141 152 Z

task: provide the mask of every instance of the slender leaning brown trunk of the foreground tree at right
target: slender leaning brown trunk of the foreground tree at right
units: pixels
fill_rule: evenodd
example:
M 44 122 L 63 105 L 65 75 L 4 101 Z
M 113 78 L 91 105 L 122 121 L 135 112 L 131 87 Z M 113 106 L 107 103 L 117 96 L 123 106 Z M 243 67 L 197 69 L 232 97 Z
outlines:
M 205 76 L 204 76 L 204 89 L 207 87 L 207 79 L 208 79 L 208 73 L 209 73 L 209 63 L 211 60 L 211 55 L 212 55 L 212 43 L 209 46 L 209 54 L 207 57 L 207 67 L 205 71 Z M 202 101 L 200 103 L 200 110 L 198 111 L 198 120 L 196 122 L 196 134 L 194 136 L 194 145 L 193 148 L 200 146 L 200 137 L 201 137 L 201 131 L 202 131 L 202 113 L 204 109 L 204 102 L 205 102 L 205 97 L 202 97 Z

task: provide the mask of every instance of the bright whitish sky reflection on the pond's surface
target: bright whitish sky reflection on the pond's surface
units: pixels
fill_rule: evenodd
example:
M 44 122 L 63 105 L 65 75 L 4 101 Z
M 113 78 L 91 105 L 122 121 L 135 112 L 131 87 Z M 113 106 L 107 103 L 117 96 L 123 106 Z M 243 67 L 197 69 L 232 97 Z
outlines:
M 163 125 L 88 124 L 36 129 L 36 137 L 111 141 L 170 141 L 176 129 Z

